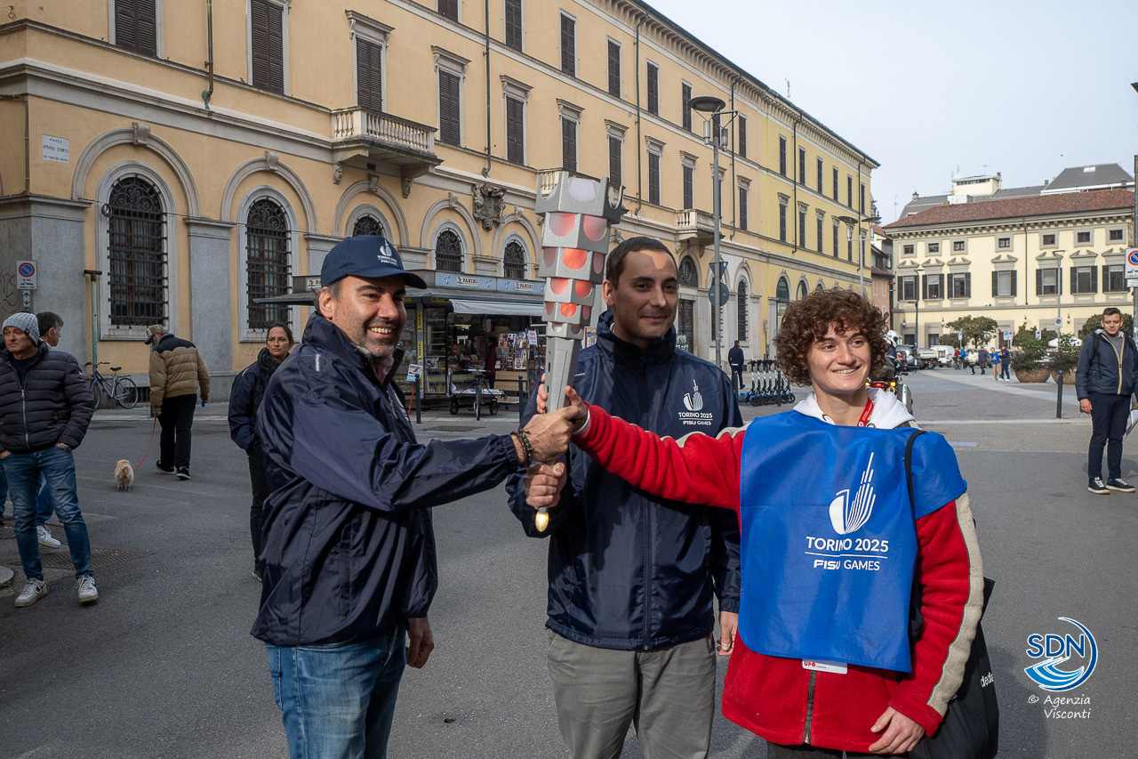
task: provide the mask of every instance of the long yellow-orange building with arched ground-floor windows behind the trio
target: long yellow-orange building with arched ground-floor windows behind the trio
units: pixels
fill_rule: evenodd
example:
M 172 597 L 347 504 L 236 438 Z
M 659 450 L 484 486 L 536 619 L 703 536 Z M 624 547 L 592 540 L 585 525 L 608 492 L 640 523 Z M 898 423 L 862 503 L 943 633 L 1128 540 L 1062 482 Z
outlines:
M 720 156 L 724 353 L 735 338 L 768 352 L 780 305 L 859 280 L 877 164 L 643 2 L 14 0 L 6 16 L 3 308 L 23 308 L 15 262 L 35 260 L 28 308 L 64 317 L 61 348 L 81 362 L 97 348 L 141 384 L 142 330 L 165 323 L 223 398 L 267 323 L 306 318 L 259 299 L 352 234 L 382 231 L 409 268 L 526 291 L 535 197 L 558 168 L 625 186 L 615 238 L 675 246 L 678 327 L 714 357 L 694 96 L 737 113 Z

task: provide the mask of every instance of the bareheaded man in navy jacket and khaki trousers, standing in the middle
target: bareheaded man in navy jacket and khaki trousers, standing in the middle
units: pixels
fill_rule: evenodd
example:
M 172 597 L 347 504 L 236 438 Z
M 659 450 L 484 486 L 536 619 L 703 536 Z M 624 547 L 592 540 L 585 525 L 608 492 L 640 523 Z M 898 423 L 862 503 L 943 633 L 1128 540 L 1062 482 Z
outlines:
M 741 426 L 727 375 L 675 346 L 677 284 L 659 240 L 618 245 L 603 284 L 612 310 L 571 384 L 589 403 L 661 435 Z M 511 480 L 510 507 L 527 534 L 550 537 L 549 669 L 570 756 L 619 757 L 635 719 L 646 759 L 706 757 L 715 650 L 731 653 L 739 619 L 735 515 L 650 497 L 571 449 L 568 483 L 538 532 L 526 504 L 536 470 Z

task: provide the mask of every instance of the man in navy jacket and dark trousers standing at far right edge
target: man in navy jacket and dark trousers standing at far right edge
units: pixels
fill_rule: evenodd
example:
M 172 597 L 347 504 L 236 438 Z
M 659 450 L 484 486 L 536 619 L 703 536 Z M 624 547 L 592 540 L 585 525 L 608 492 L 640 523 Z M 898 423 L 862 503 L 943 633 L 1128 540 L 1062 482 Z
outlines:
M 1099 328 L 1082 341 L 1074 392 L 1079 410 L 1090 414 L 1090 447 L 1087 450 L 1087 490 L 1100 496 L 1111 490 L 1133 492 L 1122 479 L 1122 436 L 1130 418 L 1130 395 L 1138 376 L 1138 349 L 1122 332 L 1122 311 L 1103 310 Z M 1103 482 L 1103 449 L 1106 449 L 1107 480 Z

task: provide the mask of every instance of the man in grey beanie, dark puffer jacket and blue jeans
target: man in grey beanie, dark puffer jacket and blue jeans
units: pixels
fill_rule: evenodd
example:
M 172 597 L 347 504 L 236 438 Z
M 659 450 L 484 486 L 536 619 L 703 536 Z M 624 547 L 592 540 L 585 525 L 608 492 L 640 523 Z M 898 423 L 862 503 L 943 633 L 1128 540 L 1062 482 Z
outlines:
M 3 323 L 0 351 L 0 460 L 16 520 L 16 545 L 27 581 L 17 606 L 47 595 L 35 534 L 35 487 L 42 474 L 67 533 L 80 603 L 99 597 L 91 573 L 91 544 L 75 492 L 72 451 L 83 442 L 94 401 L 71 353 L 49 351 L 35 316 L 14 313 Z

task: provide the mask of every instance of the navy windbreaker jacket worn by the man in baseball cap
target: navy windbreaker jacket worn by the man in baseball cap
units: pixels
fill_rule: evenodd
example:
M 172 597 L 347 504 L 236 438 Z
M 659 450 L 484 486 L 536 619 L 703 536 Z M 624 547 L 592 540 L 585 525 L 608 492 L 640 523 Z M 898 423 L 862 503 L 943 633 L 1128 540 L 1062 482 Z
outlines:
M 426 617 L 438 586 L 428 508 L 517 471 L 509 435 L 415 442 L 403 395 L 319 313 L 257 411 L 270 496 L 253 636 L 362 638 Z

